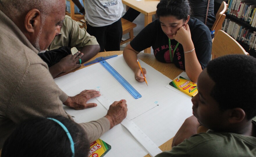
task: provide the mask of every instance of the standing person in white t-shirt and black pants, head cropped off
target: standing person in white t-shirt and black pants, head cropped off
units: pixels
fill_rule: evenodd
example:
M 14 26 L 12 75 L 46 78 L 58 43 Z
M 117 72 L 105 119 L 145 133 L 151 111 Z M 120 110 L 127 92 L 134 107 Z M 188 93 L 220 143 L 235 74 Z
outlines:
M 86 31 L 95 36 L 100 52 L 119 51 L 122 40 L 122 0 L 85 0 L 84 6 L 79 0 L 72 0 L 85 14 Z

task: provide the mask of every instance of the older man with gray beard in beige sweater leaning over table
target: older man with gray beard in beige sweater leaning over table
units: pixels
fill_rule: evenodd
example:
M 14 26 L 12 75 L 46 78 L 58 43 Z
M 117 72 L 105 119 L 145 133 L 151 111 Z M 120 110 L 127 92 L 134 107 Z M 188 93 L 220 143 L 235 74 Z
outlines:
M 0 0 L 0 149 L 15 126 L 26 118 L 60 115 L 72 119 L 63 104 L 74 109 L 97 105 L 87 103 L 100 96 L 95 90 L 67 96 L 38 56 L 54 39 L 65 17 L 65 6 L 65 0 Z M 93 142 L 126 114 L 126 101 L 116 101 L 105 117 L 80 125 Z

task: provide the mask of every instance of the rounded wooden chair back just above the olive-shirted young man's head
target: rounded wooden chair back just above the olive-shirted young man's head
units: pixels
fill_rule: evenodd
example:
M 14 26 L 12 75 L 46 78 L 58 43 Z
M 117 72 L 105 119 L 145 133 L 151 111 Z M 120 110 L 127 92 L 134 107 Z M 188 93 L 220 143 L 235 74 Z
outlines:
M 230 35 L 223 30 L 219 30 L 212 42 L 212 59 L 228 54 L 245 54 L 249 55 L 243 47 Z

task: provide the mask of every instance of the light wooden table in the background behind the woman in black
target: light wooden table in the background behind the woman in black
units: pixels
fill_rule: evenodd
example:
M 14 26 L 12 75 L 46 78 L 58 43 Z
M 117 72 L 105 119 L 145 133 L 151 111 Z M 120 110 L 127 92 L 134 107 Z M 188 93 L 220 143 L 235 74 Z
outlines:
M 144 26 L 146 26 L 152 22 L 152 15 L 157 12 L 159 0 L 122 0 L 122 3 L 144 14 Z M 145 49 L 144 52 L 150 53 L 150 48 Z

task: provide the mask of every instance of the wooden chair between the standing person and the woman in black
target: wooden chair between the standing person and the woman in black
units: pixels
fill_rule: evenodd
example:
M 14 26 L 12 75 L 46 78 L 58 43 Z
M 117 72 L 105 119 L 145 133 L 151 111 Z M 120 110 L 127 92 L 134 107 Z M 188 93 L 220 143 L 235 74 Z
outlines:
M 122 40 L 120 45 L 127 43 L 128 41 L 132 41 L 132 39 L 134 38 L 133 29 L 137 26 L 135 23 L 130 22 L 123 18 L 121 18 L 121 21 L 122 21 L 123 35 L 126 33 L 129 33 L 129 38 L 126 40 Z

